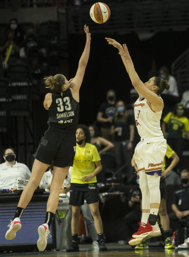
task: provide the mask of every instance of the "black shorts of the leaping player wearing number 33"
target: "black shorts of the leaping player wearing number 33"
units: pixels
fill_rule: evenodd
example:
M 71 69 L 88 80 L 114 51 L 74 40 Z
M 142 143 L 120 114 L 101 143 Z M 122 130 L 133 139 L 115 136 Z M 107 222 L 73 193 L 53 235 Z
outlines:
M 54 166 L 65 168 L 73 166 L 75 150 L 75 131 L 64 134 L 47 130 L 32 156 L 43 163 L 50 165 L 54 161 Z

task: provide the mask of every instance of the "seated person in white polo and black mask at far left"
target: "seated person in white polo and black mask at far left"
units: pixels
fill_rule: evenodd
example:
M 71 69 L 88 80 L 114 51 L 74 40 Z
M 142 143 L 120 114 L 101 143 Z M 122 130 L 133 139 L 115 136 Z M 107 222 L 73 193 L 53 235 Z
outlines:
M 31 172 L 28 167 L 20 162 L 17 162 L 16 154 L 13 148 L 7 148 L 3 151 L 5 162 L 0 164 L 0 188 L 12 189 L 16 179 L 29 179 Z

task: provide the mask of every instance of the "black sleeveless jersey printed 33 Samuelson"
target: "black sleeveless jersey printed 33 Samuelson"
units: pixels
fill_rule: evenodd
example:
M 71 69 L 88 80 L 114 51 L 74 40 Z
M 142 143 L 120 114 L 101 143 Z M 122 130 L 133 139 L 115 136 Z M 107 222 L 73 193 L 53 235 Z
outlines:
M 63 93 L 52 93 L 52 103 L 49 106 L 50 127 L 61 130 L 75 131 L 79 119 L 79 103 L 72 97 L 70 88 Z

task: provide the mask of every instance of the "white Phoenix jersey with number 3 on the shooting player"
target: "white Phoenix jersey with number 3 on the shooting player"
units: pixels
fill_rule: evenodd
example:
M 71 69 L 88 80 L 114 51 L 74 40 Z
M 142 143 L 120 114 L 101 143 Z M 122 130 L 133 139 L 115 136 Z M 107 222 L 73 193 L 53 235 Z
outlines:
M 155 112 L 147 99 L 143 98 L 142 95 L 139 96 L 134 104 L 134 115 L 141 139 L 163 135 L 160 127 L 161 114 L 162 110 Z

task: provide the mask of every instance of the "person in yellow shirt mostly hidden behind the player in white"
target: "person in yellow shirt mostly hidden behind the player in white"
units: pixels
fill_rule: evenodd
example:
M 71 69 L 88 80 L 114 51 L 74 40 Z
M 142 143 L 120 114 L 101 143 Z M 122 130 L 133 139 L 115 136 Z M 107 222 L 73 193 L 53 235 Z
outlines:
M 166 157 L 172 159 L 170 165 L 167 168 L 166 168 Z M 161 179 L 160 179 L 161 200 L 160 200 L 159 211 L 158 211 L 160 221 L 161 221 L 161 226 L 164 231 L 165 249 L 175 248 L 175 246 L 170 241 L 170 223 L 169 223 L 169 216 L 167 214 L 167 207 L 166 207 L 167 190 L 166 190 L 165 177 L 177 165 L 178 161 L 179 161 L 178 155 L 167 144 L 167 151 L 164 157 L 164 163 L 163 163 Z M 136 163 L 134 162 L 134 158 L 132 158 L 131 160 L 131 165 L 132 167 L 135 168 L 135 170 L 137 169 Z M 140 244 L 135 246 L 135 249 L 136 250 L 148 249 L 147 242 L 146 241 L 141 242 Z

